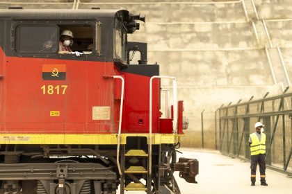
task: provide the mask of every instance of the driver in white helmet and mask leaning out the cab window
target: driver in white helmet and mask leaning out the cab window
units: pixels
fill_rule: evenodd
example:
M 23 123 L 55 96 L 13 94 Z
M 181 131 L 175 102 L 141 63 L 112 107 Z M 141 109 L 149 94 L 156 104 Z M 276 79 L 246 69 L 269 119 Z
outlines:
M 63 30 L 60 35 L 60 42 L 59 42 L 59 54 L 74 54 L 77 57 L 83 55 L 78 51 L 72 51 L 70 46 L 73 44 L 73 33 L 71 30 Z

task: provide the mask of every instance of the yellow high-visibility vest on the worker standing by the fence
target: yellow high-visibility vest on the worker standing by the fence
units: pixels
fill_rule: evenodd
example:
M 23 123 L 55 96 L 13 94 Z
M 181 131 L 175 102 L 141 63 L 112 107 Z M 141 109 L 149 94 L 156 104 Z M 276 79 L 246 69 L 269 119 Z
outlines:
M 252 144 L 250 145 L 250 155 L 266 154 L 266 134 L 261 133 L 261 141 L 257 137 L 257 134 L 250 134 Z

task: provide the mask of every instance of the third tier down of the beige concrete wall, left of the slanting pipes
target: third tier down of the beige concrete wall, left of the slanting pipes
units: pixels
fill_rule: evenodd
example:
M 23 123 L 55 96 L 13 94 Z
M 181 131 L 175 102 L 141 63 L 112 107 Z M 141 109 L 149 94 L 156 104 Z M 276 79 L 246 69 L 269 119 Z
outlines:
M 176 75 L 180 87 L 273 85 L 266 58 L 259 58 L 264 55 L 263 50 L 150 51 L 148 61 L 159 62 L 163 74 Z

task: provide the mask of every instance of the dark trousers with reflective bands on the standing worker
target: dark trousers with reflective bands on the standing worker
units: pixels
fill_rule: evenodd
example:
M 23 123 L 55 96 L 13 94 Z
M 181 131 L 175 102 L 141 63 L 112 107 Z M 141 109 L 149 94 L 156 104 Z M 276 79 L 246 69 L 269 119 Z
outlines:
M 257 164 L 259 164 L 259 173 L 261 174 L 261 183 L 266 182 L 266 155 L 253 155 L 250 156 L 251 164 L 250 169 L 251 177 L 250 180 L 252 182 L 256 181 L 256 173 L 257 173 Z

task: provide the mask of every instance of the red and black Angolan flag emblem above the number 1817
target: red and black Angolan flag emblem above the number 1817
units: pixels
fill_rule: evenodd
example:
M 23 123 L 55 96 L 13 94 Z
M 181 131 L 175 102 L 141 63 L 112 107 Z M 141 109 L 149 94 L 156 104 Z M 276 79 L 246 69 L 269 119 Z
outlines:
M 43 64 L 42 80 L 66 80 L 66 65 Z

